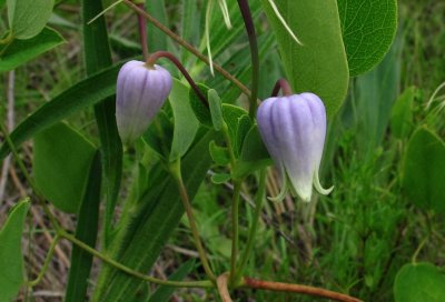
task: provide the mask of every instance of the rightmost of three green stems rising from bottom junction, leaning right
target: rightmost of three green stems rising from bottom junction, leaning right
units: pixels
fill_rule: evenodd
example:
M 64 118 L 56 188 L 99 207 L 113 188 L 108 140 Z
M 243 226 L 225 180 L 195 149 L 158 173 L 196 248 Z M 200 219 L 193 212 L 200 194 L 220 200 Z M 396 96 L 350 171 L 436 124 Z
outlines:
M 250 225 L 249 235 L 248 235 L 247 244 L 246 244 L 246 250 L 244 251 L 244 253 L 241 255 L 241 262 L 238 266 L 238 272 L 235 275 L 235 284 L 238 284 L 238 282 L 240 281 L 244 270 L 246 269 L 247 261 L 249 260 L 249 256 L 251 254 L 251 250 L 254 249 L 255 235 L 256 235 L 257 228 L 258 228 L 258 221 L 261 215 L 261 207 L 263 207 L 265 197 L 266 197 L 266 170 L 264 169 L 264 170 L 261 170 L 261 172 L 259 174 L 258 194 L 255 200 L 254 221 L 251 222 L 251 225 Z

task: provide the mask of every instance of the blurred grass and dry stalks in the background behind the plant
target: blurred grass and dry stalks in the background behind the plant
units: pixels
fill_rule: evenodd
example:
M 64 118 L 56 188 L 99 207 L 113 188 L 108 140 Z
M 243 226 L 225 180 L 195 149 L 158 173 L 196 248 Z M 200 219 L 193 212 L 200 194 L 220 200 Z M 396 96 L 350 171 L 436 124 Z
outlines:
M 62 33 L 67 43 L 13 72 L 0 74 L 2 118 L 10 128 L 86 74 L 80 44 L 80 7 L 77 1 L 57 2 L 50 26 Z M 112 1 L 106 2 L 107 6 Z M 206 50 L 202 40 L 204 1 L 149 2 L 152 16 L 202 52 Z M 259 95 L 264 99 L 284 72 L 275 38 L 260 11 L 259 1 L 250 2 L 259 33 Z M 283 203 L 268 202 L 248 268 L 249 275 L 349 292 L 364 301 L 392 301 L 395 275 L 417 250 L 418 261 L 428 261 L 439 268 L 445 265 L 444 218 L 414 208 L 400 185 L 400 168 L 407 140 L 415 127 L 424 122 L 428 113 L 426 103 L 445 81 L 445 2 L 406 0 L 398 4 L 399 26 L 390 51 L 377 68 L 350 79 L 348 97 L 337 115 L 329 121 L 323 183 L 326 187 L 334 184 L 335 190 L 328 197 L 317 197 L 309 204 L 290 198 Z M 216 62 L 248 83 L 249 52 L 241 20 L 236 12 L 237 6 L 231 6 L 231 30 L 222 26 L 219 11 L 212 13 L 211 49 Z M 2 13 L 0 29 L 3 30 L 7 19 L 4 11 Z M 117 62 L 140 56 L 136 16 L 126 7 L 118 6 L 107 13 L 107 20 L 113 60 Z M 224 101 L 244 103 L 245 100 L 238 98 L 237 89 L 218 74 L 211 77 L 204 63 L 157 29 L 149 27 L 149 37 L 150 51 L 168 49 L 182 60 L 195 79 L 217 89 Z M 178 77 L 175 69 L 171 72 Z M 7 105 L 8 90 L 14 92 L 13 109 Z M 403 98 L 412 99 L 413 125 L 400 133 L 392 124 L 392 117 L 395 114 L 394 104 Z M 444 101 L 445 92 L 437 93 L 435 104 Z M 7 113 L 13 119 L 7 121 Z M 88 133 L 91 140 L 98 140 L 92 112 L 83 112 L 69 122 Z M 445 135 L 444 125 L 443 118 L 434 121 L 442 138 Z M 32 144 L 24 144 L 20 153 L 30 164 Z M 140 155 L 138 150 L 127 153 L 127 177 L 122 188 L 131 187 L 137 174 L 132 162 Z M 279 187 L 277 182 L 279 180 L 270 170 L 269 195 L 276 194 Z M 21 197 L 28 195 L 30 189 L 14 165 L 3 172 L 0 184 L 1 224 L 10 207 Z M 122 191 L 121 200 L 125 200 L 130 189 Z M 247 182 L 245 192 L 255 192 L 255 188 L 249 188 Z M 194 201 L 201 236 L 218 272 L 229 270 L 230 193 L 229 184 L 215 185 L 208 180 Z M 246 193 L 244 198 L 241 242 L 246 239 L 253 215 L 249 205 L 253 197 Z M 55 212 L 62 225 L 69 230 L 75 229 L 76 221 L 71 215 L 57 210 Z M 41 211 L 34 207 L 31 213 L 23 239 L 30 278 L 39 272 L 53 236 Z M 418 249 L 425 239 L 428 240 Z M 70 244 L 62 242 L 56 250 L 43 281 L 32 293 L 22 292 L 20 301 L 61 301 L 69 255 Z M 184 220 L 151 273 L 169 275 L 181 263 L 196 258 L 191 235 Z M 202 276 L 201 271 L 191 275 L 196 279 Z M 209 301 L 216 295 L 215 292 L 202 290 L 178 290 L 172 301 Z M 313 298 L 301 295 L 259 291 L 239 292 L 238 296 L 239 301 L 313 301 Z

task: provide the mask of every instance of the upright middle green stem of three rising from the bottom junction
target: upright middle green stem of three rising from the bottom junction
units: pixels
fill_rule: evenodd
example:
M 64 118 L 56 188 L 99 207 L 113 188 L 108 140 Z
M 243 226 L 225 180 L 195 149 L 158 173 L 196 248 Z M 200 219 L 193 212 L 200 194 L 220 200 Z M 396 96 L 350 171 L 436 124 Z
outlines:
M 239 194 L 241 192 L 241 181 L 234 184 L 234 195 L 231 199 L 231 256 L 230 256 L 230 285 L 235 285 L 237 275 L 237 258 L 239 244 Z

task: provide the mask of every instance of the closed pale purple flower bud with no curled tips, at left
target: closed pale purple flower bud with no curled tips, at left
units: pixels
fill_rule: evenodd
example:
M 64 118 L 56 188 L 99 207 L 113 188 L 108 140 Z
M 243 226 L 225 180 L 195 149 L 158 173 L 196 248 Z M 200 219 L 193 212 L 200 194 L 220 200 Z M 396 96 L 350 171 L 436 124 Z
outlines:
M 170 91 L 171 76 L 166 69 L 135 60 L 122 66 L 116 91 L 116 121 L 123 143 L 142 135 Z

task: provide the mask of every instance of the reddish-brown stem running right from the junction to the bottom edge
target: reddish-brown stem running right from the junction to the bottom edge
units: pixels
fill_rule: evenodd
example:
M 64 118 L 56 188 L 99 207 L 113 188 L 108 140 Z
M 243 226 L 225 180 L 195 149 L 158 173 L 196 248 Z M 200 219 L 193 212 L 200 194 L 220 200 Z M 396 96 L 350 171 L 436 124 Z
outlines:
M 245 288 L 250 289 L 258 289 L 258 290 L 269 290 L 269 291 L 277 291 L 277 292 L 293 292 L 293 293 L 301 293 L 308 295 L 315 295 L 320 298 L 330 299 L 334 301 L 340 302 L 362 302 L 362 300 L 357 298 L 353 298 L 347 294 L 337 293 L 333 291 L 328 291 L 325 289 L 313 288 L 307 285 L 299 285 L 299 284 L 289 284 L 283 282 L 271 282 L 271 281 L 264 281 L 257 280 L 251 278 L 245 278 L 244 284 Z

